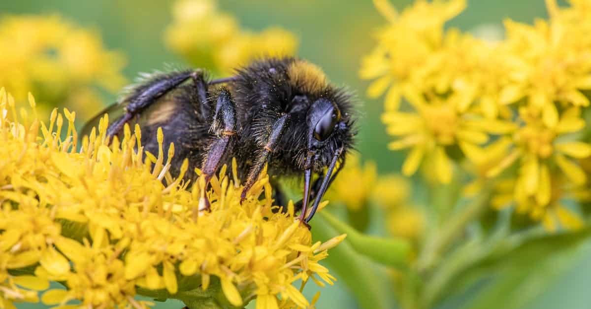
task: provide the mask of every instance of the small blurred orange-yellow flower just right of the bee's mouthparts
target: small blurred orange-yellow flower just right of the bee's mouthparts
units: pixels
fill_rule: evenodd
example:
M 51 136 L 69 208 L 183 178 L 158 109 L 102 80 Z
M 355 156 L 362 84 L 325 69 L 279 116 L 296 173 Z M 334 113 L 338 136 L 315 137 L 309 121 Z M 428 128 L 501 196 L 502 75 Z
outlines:
M 369 161 L 362 165 L 359 155 L 351 154 L 339 177 L 330 185 L 326 199 L 342 203 L 350 210 L 360 210 L 366 206 L 377 177 L 375 162 Z

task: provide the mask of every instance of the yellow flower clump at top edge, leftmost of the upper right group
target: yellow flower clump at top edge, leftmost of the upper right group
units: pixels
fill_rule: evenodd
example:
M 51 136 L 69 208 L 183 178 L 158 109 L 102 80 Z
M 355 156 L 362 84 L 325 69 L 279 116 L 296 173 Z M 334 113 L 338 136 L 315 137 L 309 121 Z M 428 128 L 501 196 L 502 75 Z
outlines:
M 466 2 L 421 0 L 400 15 L 387 0 L 374 3 L 389 25 L 378 32 L 378 46 L 363 58 L 360 75 L 376 79 L 368 88 L 369 96 L 377 97 L 389 87 L 385 105 L 397 110 L 402 95 L 420 92 L 417 68 L 441 49 L 443 24 L 463 11 Z

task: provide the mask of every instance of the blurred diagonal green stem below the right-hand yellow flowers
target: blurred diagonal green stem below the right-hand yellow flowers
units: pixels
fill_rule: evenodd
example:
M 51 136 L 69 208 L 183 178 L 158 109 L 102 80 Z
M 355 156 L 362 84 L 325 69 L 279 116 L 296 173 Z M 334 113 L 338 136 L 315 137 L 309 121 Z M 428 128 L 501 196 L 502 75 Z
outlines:
M 427 241 L 418 259 L 417 269 L 419 272 L 429 271 L 437 264 L 441 256 L 447 252 L 447 249 L 462 235 L 467 224 L 488 207 L 490 194 L 491 190 L 487 186 L 472 204 L 463 207 L 461 213 L 453 215 L 448 223 Z

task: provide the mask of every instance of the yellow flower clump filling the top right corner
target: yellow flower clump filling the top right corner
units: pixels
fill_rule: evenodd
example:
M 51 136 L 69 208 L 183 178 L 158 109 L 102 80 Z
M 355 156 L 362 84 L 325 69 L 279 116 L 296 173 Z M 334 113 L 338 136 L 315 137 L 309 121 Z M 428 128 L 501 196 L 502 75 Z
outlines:
M 532 112 L 541 113 L 553 127 L 558 121 L 556 103 L 566 107 L 588 106 L 589 99 L 581 89 L 591 89 L 591 40 L 586 30 L 591 27 L 591 12 L 585 1 L 572 1 L 573 7 L 558 9 L 548 0 L 550 20 L 537 20 L 534 25 L 506 21 L 506 48 L 519 57 L 511 63 L 509 84 L 499 100 L 510 104 L 525 98 Z

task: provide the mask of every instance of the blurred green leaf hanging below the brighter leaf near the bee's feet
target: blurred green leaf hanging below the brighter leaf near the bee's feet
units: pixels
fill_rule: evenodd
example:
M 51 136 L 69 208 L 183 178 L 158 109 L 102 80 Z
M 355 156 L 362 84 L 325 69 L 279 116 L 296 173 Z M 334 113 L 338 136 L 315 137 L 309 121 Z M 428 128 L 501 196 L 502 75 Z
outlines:
M 348 234 L 344 242 L 329 250 L 326 263 L 330 271 L 335 272 L 333 275 L 336 276 L 337 280 L 344 281 L 348 286 L 350 292 L 358 301 L 359 308 L 395 308 L 391 282 L 385 269 L 359 254 L 353 249 L 352 244 L 348 242 L 350 235 L 358 234 L 358 232 L 352 227 L 348 227 L 347 231 L 333 228 L 332 222 L 327 218 L 331 217 L 336 221 L 338 220 L 332 215 L 327 215 L 326 210 L 321 211 L 320 214 L 323 215 L 314 217 L 312 233 L 314 240 L 326 241 L 340 233 Z

